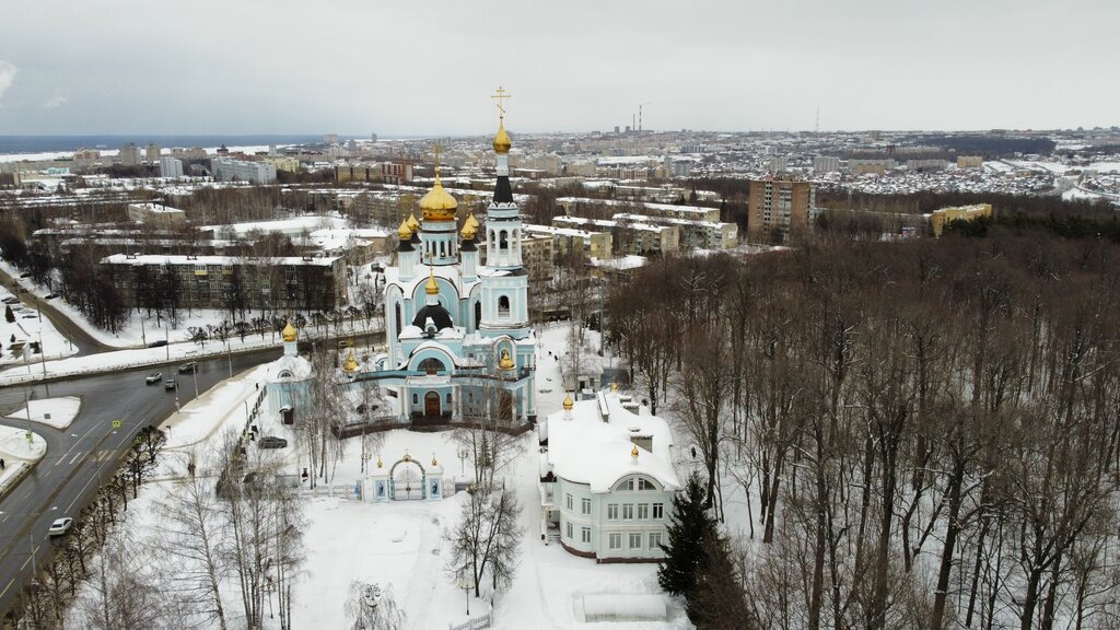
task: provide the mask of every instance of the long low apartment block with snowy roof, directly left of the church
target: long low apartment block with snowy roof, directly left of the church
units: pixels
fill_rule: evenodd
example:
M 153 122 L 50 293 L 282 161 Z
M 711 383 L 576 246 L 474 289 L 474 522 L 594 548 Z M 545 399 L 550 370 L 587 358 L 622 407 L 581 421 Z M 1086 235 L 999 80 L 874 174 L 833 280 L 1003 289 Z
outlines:
M 346 262 L 342 257 L 240 258 L 227 256 L 105 257 L 109 272 L 127 306 L 134 307 L 155 290 L 165 274 L 175 281 L 179 306 L 228 308 L 236 298 L 245 308 L 332 311 L 346 303 Z M 240 296 L 237 295 L 240 293 Z

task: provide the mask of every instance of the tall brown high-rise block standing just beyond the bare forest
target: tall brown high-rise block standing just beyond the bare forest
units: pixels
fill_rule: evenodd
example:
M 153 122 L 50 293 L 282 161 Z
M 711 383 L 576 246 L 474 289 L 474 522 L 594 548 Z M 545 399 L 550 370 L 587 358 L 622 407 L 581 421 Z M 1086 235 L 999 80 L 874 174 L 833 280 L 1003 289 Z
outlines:
M 766 177 L 752 179 L 747 204 L 750 240 L 782 242 L 809 228 L 809 210 L 816 205 L 812 183 Z

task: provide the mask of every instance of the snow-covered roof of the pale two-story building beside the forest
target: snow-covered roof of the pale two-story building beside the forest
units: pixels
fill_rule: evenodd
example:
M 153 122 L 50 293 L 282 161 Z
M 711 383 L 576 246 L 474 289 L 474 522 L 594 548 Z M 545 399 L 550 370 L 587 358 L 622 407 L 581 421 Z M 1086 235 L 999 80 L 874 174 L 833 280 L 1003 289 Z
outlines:
M 548 437 L 547 466 L 557 476 L 587 483 L 591 492 L 609 492 L 619 480 L 632 474 L 653 478 L 676 490 L 680 481 L 670 454 L 673 434 L 665 420 L 634 414 L 623 406 L 624 397 L 600 392 L 594 400 L 582 400 L 568 411 L 545 419 L 542 436 Z M 635 444 L 652 442 L 652 452 Z

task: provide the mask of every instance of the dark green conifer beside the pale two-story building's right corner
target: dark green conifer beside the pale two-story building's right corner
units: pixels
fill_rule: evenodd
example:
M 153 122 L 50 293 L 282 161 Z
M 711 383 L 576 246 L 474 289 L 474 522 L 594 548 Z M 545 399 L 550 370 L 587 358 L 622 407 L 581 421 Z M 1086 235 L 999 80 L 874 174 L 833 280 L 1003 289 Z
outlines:
M 704 540 L 716 530 L 716 519 L 704 508 L 707 499 L 700 476 L 692 473 L 684 489 L 673 498 L 665 559 L 657 569 L 657 583 L 666 593 L 688 595 L 696 586 L 704 562 Z

